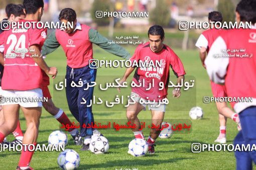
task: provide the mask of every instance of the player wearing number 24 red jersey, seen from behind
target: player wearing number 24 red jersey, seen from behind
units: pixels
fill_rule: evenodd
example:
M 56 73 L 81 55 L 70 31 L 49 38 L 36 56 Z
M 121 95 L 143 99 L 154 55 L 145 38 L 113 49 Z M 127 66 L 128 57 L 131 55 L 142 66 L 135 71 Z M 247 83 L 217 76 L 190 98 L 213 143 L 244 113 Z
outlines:
M 43 0 L 24 0 L 26 20 L 40 21 L 43 15 Z M 45 29 L 29 29 L 13 27 L 0 35 L 0 45 L 5 44 L 5 71 L 2 79 L 2 92 L 4 97 L 42 97 L 42 70 L 52 75 L 57 74 L 56 67 L 48 67 L 41 56 L 41 47 L 46 38 Z M 27 52 L 21 52 L 17 49 Z M 33 57 L 32 57 L 33 56 Z M 2 58 L 3 59 L 3 58 Z M 22 109 L 27 121 L 27 130 L 24 134 L 23 144 L 36 144 L 38 137 L 39 118 L 42 112 L 41 101 L 24 102 L 22 100 L 9 100 L 3 103 L 5 121 L 0 126 L 0 142 L 16 127 L 19 119 L 19 109 Z M 26 147 L 26 148 L 25 148 Z M 32 169 L 29 164 L 34 151 L 23 146 L 17 169 Z

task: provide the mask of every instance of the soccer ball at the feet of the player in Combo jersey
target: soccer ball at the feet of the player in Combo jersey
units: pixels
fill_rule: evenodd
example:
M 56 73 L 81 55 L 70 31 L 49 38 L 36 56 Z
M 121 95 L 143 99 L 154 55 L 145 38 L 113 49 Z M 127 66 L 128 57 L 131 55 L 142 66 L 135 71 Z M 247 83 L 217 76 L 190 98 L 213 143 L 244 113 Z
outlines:
M 128 147 L 128 153 L 132 154 L 133 156 L 144 156 L 149 150 L 148 144 L 141 138 L 133 139 L 129 143 Z

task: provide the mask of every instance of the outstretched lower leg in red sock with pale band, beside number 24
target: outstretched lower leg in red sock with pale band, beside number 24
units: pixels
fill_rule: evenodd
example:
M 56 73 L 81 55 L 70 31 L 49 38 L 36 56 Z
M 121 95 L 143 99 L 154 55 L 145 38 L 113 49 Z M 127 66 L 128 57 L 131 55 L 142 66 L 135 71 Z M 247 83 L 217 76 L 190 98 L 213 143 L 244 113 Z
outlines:
M 56 118 L 61 124 L 64 124 L 65 126 L 68 124 L 69 127 L 72 125 L 72 122 L 69 120 L 65 112 L 61 108 L 56 107 L 51 98 L 48 98 L 48 101 L 43 102 L 43 107 L 46 109 L 46 111 L 52 114 L 54 118 Z M 76 145 L 81 145 L 83 143 L 83 139 L 79 135 L 76 128 L 69 128 L 67 130 L 73 137 Z

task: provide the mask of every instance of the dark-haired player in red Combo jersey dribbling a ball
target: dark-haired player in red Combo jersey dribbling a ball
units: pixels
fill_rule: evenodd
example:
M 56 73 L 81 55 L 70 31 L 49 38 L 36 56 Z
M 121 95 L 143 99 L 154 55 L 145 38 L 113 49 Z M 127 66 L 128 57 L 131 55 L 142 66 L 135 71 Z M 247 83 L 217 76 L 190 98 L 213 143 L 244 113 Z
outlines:
M 152 123 L 156 126 L 162 124 L 164 119 L 165 107 L 166 104 L 161 103 L 160 100 L 166 99 L 167 90 L 169 83 L 169 69 L 170 67 L 173 69 L 174 74 L 177 76 L 177 83 L 181 83 L 184 80 L 185 70 L 183 64 L 179 57 L 175 54 L 175 52 L 166 44 L 163 43 L 165 38 L 165 32 L 162 26 L 154 25 L 149 28 L 148 31 L 149 42 L 146 44 L 139 45 L 134 55 L 132 56 L 131 61 L 149 61 L 152 60 L 155 62 L 156 60 L 161 61 L 161 67 L 138 67 L 136 68 L 133 81 L 138 84 L 140 81 L 145 81 L 145 86 L 142 87 L 133 87 L 132 94 L 135 104 L 130 104 L 126 109 L 126 116 L 129 121 L 133 124 L 137 125 L 137 128 L 133 128 L 134 135 L 136 138 L 144 138 L 141 128 L 140 120 L 137 115 L 140 113 L 142 109 L 146 109 L 147 104 L 141 104 L 140 100 L 150 100 L 156 101 L 153 105 L 148 104 L 149 109 L 152 114 Z M 127 68 L 123 77 L 120 80 L 120 83 L 126 81 L 126 78 L 133 72 L 135 67 Z M 154 82 L 153 82 L 154 79 Z M 164 88 L 159 90 L 159 83 L 162 82 L 164 84 Z M 146 90 L 148 88 L 149 83 L 155 83 L 154 87 Z M 153 85 L 152 85 L 153 86 Z M 120 91 L 120 88 L 118 88 Z M 173 96 L 180 96 L 180 89 L 175 88 L 173 90 Z M 156 128 L 151 128 L 150 136 L 147 140 L 149 144 L 149 153 L 155 153 L 155 141 L 159 136 L 161 130 Z

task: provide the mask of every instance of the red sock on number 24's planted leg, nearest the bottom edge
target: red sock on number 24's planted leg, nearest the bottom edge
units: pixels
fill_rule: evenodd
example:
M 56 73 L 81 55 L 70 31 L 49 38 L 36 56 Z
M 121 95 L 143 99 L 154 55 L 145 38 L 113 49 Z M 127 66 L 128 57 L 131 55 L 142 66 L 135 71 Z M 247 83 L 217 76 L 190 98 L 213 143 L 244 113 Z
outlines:
M 33 144 L 36 145 L 37 142 L 34 142 Z M 32 159 L 32 156 L 34 154 L 34 151 L 29 151 L 28 150 L 28 145 L 23 146 L 23 147 L 26 147 L 26 151 L 25 151 L 24 148 L 22 149 L 22 153 L 21 153 L 21 157 L 20 157 L 20 161 L 19 161 L 19 166 L 20 167 L 29 166 L 29 163 L 30 163 L 30 161 Z M 30 149 L 32 149 L 32 148 L 33 148 L 33 146 L 30 146 Z

